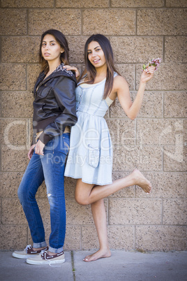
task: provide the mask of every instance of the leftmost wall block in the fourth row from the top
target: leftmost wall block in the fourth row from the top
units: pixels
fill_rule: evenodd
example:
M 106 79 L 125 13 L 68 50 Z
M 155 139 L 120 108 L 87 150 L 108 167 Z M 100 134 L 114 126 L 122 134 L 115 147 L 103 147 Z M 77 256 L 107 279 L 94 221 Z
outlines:
M 26 90 L 26 66 L 24 64 L 1 64 L 1 90 Z

